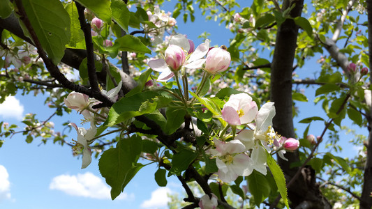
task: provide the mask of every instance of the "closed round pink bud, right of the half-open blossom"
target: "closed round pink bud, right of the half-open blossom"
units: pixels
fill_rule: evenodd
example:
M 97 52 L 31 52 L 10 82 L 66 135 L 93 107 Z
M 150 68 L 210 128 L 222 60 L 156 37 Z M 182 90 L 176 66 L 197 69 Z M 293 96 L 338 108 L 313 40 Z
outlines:
M 205 70 L 211 74 L 216 74 L 217 72 L 223 72 L 228 70 L 231 62 L 230 52 L 224 48 L 213 48 L 207 54 L 207 59 L 205 61 Z

